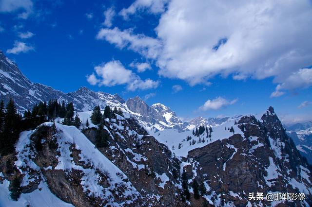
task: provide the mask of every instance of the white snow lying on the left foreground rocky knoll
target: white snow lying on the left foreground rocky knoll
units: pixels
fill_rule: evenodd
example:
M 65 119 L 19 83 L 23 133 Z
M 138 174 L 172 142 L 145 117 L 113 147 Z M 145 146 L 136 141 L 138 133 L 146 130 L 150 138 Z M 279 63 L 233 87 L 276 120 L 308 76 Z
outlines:
M 53 123 L 45 122 L 42 125 L 52 126 Z M 58 151 L 60 156 L 58 158 L 58 165 L 55 167 L 55 170 L 63 170 L 65 172 L 71 172 L 73 169 L 83 172 L 81 178 L 81 185 L 85 192 L 95 197 L 105 198 L 109 204 L 116 206 L 114 203 L 114 197 L 110 190 L 115 190 L 116 188 L 123 189 L 123 196 L 127 200 L 126 203 L 131 203 L 136 200 L 140 194 L 132 186 L 129 181 L 125 181 L 127 176 L 120 171 L 117 166 L 115 166 L 105 155 L 100 153 L 98 149 L 92 144 L 88 138 L 86 138 L 75 126 L 65 126 L 59 123 L 56 123 L 58 133 L 54 135 L 59 148 Z M 30 157 L 35 157 L 33 151 L 30 149 L 30 136 L 33 131 L 26 131 L 20 134 L 20 139 L 16 144 L 17 158 L 15 165 L 20 170 L 21 173 L 25 174 L 22 185 L 28 185 L 29 182 L 34 181 L 34 177 L 29 175 L 27 172 L 29 169 L 36 170 L 39 172 L 40 176 L 43 179 L 41 170 L 39 166 L 34 163 Z M 76 165 L 71 156 L 71 147 L 75 147 L 77 150 L 80 150 L 80 160 L 86 164 L 92 165 L 92 168 L 83 168 L 80 165 Z M 144 159 L 144 157 L 143 157 Z M 44 170 L 53 170 L 52 166 L 44 168 Z M 105 174 L 108 177 L 109 187 L 103 188 L 98 182 L 101 179 L 98 172 Z M 38 177 L 37 177 L 38 178 Z M 43 179 L 44 180 L 44 179 Z M 42 183 L 42 181 L 41 181 Z M 45 185 L 45 184 L 40 184 Z M 44 186 L 43 186 L 44 187 Z M 2 190 L 2 189 L 1 189 Z M 47 190 L 46 190 L 47 191 Z M 35 190 L 34 193 L 37 191 Z M 41 192 L 41 191 L 40 191 Z M 25 199 L 28 195 L 25 195 Z M 21 198 L 23 198 L 23 194 Z M 1 196 L 2 197 L 2 196 Z M 44 197 L 44 196 L 43 196 Z M 129 200 L 129 198 L 131 200 Z M 4 199 L 4 198 L 0 198 Z M 39 198 L 40 199 L 40 198 Z M 49 198 L 48 198 L 49 199 Z M 27 200 L 27 199 L 26 199 Z M 37 202 L 37 199 L 34 199 Z M 23 200 L 21 200 L 23 201 Z M 7 202 L 7 201 L 5 201 Z M 12 201 L 13 202 L 13 201 Z M 55 205 L 58 205 L 57 202 L 54 202 Z M 54 206 L 54 203 L 51 206 Z M 45 204 L 45 203 L 42 203 Z M 18 203 L 17 203 L 18 205 Z M 122 204 L 120 204 L 122 206 Z M 23 206 L 23 205 L 20 205 Z M 44 206 L 44 205 L 43 205 Z

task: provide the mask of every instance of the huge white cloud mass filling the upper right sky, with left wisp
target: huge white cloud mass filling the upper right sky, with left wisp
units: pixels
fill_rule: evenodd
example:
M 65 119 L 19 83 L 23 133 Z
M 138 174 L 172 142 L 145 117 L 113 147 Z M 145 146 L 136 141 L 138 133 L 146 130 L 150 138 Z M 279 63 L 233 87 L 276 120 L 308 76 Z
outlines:
M 143 3 L 138 2 L 143 0 L 120 14 L 139 11 L 135 5 Z M 163 11 L 155 38 L 117 28 L 102 29 L 98 38 L 155 59 L 159 75 L 191 86 L 216 75 L 235 80 L 273 77 L 281 90 L 311 86 L 300 76 L 310 74 L 305 68 L 312 65 L 310 1 L 171 0 Z M 272 97 L 285 93 L 281 90 Z

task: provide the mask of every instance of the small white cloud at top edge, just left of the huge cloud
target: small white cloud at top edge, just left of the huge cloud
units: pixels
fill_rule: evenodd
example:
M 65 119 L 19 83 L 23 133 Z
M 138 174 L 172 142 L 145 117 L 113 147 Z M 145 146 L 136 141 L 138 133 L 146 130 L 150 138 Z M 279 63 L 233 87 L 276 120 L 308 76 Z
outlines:
M 162 13 L 167 2 L 168 0 L 136 0 L 128 8 L 123 8 L 119 15 L 124 19 L 129 19 L 129 15 L 143 10 L 147 10 L 147 12 L 152 14 Z

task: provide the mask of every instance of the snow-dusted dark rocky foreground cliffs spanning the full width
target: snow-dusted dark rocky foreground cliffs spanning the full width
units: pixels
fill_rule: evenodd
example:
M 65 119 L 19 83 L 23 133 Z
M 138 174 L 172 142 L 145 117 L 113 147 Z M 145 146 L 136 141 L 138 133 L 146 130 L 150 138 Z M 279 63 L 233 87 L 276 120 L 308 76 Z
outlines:
M 75 127 L 58 123 L 54 127 L 48 122 L 23 132 L 16 154 L 0 157 L 1 190 L 9 194 L 5 186 L 13 190 L 18 178 L 21 200 L 27 196 L 36 200 L 35 195 L 46 191 L 44 196 L 75 206 L 312 204 L 311 166 L 286 135 L 272 107 L 261 120 L 242 116 L 212 127 L 211 138 L 206 132 L 192 137 L 207 141 L 187 151 L 187 156 L 176 155 L 178 150 L 147 135 L 135 118 L 116 117 L 105 121 L 107 147 L 93 144 L 97 131 L 93 125 L 82 129 L 83 134 Z M 228 132 L 230 125 L 234 133 Z M 185 133 L 190 132 L 178 134 L 183 139 Z M 182 199 L 183 172 L 191 193 L 188 201 Z M 198 199 L 195 182 L 205 186 Z M 306 197 L 294 202 L 248 199 L 249 193 L 257 192 L 300 192 Z

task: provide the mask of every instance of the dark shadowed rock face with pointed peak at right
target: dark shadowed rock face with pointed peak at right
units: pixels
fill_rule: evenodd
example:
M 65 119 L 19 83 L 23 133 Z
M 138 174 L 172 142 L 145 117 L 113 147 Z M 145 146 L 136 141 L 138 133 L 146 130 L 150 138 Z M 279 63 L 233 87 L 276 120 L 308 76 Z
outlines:
M 216 194 L 233 191 L 243 198 L 234 201 L 236 206 L 247 204 L 249 192 L 299 192 L 291 185 L 292 179 L 304 183 L 307 189 L 312 188 L 311 173 L 307 169 L 311 167 L 286 135 L 273 107 L 261 120 L 263 122 L 253 116 L 242 117 L 238 127 L 244 130 L 244 136 L 235 134 L 188 154 L 200 164 L 201 173 L 206 174 L 206 180 Z M 276 176 L 272 175 L 274 172 Z M 305 173 L 308 177 L 302 176 Z M 307 193 L 310 204 L 311 199 L 311 193 Z M 233 201 L 233 196 L 225 196 L 225 200 Z

